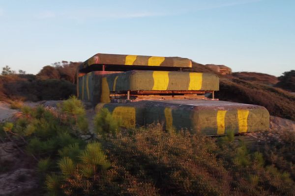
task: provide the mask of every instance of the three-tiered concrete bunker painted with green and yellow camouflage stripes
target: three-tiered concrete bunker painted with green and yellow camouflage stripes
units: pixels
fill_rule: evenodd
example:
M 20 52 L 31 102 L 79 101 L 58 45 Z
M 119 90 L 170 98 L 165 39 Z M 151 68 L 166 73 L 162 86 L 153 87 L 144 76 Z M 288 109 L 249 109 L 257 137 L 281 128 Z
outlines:
M 163 123 L 205 135 L 269 129 L 266 108 L 214 99 L 219 77 L 182 72 L 191 67 L 187 58 L 99 53 L 78 68 L 77 95 L 97 111 L 108 108 L 126 128 Z

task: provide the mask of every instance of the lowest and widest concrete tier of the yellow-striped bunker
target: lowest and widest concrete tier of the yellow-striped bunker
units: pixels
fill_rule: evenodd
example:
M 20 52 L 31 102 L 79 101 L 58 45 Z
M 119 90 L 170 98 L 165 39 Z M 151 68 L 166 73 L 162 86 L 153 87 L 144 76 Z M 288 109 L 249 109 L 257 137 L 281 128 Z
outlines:
M 269 113 L 258 105 L 216 100 L 149 100 L 131 103 L 100 103 L 123 126 L 134 128 L 164 123 L 166 130 L 188 129 L 192 133 L 222 135 L 269 130 Z

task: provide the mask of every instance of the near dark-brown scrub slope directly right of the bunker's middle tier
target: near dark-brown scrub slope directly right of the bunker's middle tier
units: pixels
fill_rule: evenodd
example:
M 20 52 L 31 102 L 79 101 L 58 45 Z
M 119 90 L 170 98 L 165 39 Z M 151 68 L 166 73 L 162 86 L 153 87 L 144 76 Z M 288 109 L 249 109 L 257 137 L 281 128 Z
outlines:
M 266 107 L 270 115 L 295 120 L 295 96 L 278 88 L 241 79 L 220 79 L 216 98 Z

